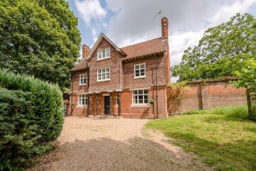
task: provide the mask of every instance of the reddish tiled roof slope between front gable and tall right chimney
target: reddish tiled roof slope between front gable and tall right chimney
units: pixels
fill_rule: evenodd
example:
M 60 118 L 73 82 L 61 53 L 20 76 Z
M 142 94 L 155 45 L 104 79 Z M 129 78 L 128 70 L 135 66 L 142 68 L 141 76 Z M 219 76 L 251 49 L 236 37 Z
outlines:
M 152 40 L 140 42 L 135 45 L 123 47 L 121 48 L 121 50 L 127 54 L 127 56 L 123 59 L 130 59 L 137 56 L 166 51 L 166 46 L 167 39 L 162 40 L 162 37 L 159 37 Z

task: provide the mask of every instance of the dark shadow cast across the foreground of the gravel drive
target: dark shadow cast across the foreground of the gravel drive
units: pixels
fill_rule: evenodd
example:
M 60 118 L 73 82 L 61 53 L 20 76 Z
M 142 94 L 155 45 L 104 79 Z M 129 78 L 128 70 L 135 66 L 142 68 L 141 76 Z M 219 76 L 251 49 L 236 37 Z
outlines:
M 164 147 L 140 137 L 128 143 L 108 138 L 67 142 L 35 162 L 27 170 L 195 170 L 173 162 Z

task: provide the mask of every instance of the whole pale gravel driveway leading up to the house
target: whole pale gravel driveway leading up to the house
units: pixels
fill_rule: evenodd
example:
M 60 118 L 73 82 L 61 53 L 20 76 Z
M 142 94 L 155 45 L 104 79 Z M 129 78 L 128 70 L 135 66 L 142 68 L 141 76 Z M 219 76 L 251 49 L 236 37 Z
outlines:
M 67 117 L 56 148 L 27 170 L 211 170 L 143 130 L 148 120 Z

